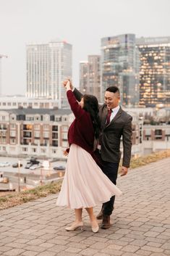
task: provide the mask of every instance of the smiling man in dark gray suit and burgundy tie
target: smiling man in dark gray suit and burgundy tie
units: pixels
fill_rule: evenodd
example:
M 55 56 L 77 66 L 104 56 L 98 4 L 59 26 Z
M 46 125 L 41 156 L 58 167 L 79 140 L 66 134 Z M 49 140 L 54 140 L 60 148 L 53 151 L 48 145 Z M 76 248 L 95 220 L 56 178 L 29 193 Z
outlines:
M 78 101 L 82 94 L 73 88 Z M 99 158 L 100 167 L 103 173 L 116 185 L 119 161 L 121 158 L 120 142 L 123 142 L 123 162 L 122 174 L 127 175 L 132 147 L 132 117 L 119 106 L 119 88 L 111 86 L 106 89 L 105 103 L 99 107 L 101 119 L 101 136 L 95 155 Z M 102 220 L 101 228 L 110 228 L 110 215 L 114 210 L 115 197 L 111 197 L 109 202 L 102 205 L 101 212 L 97 215 L 98 220 Z

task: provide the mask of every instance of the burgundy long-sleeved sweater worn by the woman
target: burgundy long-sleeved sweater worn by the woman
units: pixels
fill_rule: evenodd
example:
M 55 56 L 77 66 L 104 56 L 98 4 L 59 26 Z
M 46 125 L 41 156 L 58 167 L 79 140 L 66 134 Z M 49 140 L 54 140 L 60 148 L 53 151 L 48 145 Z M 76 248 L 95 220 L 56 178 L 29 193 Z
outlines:
M 68 131 L 69 146 L 77 144 L 93 155 L 94 128 L 90 114 L 80 107 L 71 90 L 67 91 L 67 99 L 75 115 Z

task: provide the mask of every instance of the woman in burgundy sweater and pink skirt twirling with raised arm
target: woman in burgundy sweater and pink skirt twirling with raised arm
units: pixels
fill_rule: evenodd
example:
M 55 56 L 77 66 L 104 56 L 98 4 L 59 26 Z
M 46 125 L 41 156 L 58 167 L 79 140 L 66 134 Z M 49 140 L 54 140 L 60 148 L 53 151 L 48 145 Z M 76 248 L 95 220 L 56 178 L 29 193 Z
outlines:
M 69 127 L 69 154 L 68 150 L 64 152 L 68 154 L 67 167 L 56 205 L 75 209 L 75 222 L 66 228 L 67 231 L 82 228 L 82 208 L 85 208 L 95 233 L 98 232 L 98 222 L 93 207 L 108 202 L 111 196 L 119 196 L 122 192 L 111 183 L 92 157 L 94 139 L 98 139 L 100 131 L 98 100 L 86 94 L 78 103 L 69 80 L 64 85 L 75 120 Z

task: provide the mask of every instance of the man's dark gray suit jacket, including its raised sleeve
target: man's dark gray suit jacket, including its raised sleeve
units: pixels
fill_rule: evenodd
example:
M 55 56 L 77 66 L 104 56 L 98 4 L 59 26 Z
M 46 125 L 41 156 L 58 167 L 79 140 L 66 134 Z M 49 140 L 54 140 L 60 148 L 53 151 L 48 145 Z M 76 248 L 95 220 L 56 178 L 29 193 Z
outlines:
M 76 88 L 73 91 L 75 97 L 80 101 L 82 94 Z M 101 119 L 101 158 L 107 162 L 119 162 L 121 158 L 120 142 L 123 142 L 122 165 L 129 168 L 132 148 L 132 117 L 120 107 L 116 116 L 109 125 L 106 125 L 108 110 L 106 104 L 99 107 Z

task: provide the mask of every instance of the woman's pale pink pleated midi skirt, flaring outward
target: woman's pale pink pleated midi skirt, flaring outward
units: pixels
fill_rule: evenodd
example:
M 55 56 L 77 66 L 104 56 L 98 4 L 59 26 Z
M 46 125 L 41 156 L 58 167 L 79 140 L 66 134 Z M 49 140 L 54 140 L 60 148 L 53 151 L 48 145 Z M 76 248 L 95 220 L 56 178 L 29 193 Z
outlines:
M 120 196 L 114 183 L 98 167 L 93 157 L 76 144 L 69 149 L 64 180 L 56 205 L 72 209 L 94 207 Z

